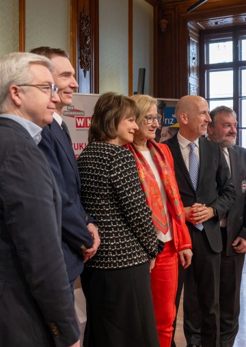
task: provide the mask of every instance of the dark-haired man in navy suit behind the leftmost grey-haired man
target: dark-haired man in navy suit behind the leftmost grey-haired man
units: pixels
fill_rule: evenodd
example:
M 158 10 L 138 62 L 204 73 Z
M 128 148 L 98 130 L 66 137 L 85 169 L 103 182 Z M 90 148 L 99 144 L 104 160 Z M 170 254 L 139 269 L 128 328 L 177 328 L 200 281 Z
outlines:
M 62 107 L 71 105 L 72 92 L 78 88 L 78 83 L 74 79 L 74 68 L 66 51 L 38 47 L 32 49 L 31 53 L 45 55 L 51 60 L 53 79 L 55 86 L 59 88 L 60 102 L 56 104 L 53 122 L 42 131 L 39 147 L 48 159 L 61 194 L 62 250 L 73 292 L 74 281 L 83 271 L 83 263 L 96 253 L 100 244 L 95 221 L 81 205 L 77 162 L 70 136 L 66 132 L 66 124 L 61 118 Z

